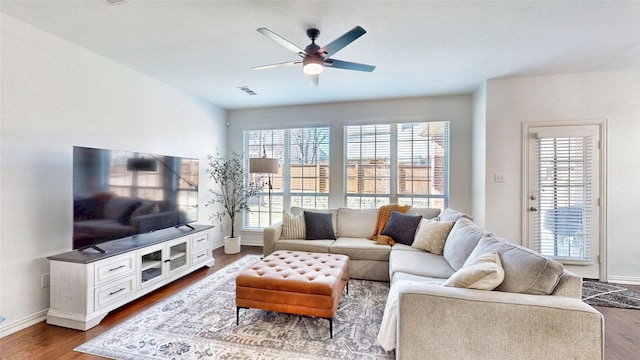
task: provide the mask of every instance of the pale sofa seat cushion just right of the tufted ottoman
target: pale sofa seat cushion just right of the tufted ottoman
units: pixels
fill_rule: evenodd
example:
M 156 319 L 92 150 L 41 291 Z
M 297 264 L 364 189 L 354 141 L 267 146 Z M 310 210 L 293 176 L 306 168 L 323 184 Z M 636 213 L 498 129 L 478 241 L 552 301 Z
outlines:
M 448 279 L 455 270 L 440 255 L 421 250 L 397 251 L 394 245 L 389 255 L 389 278 L 393 279 L 396 272 Z

